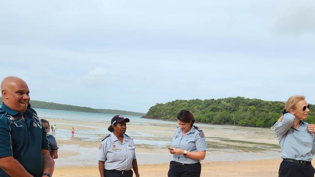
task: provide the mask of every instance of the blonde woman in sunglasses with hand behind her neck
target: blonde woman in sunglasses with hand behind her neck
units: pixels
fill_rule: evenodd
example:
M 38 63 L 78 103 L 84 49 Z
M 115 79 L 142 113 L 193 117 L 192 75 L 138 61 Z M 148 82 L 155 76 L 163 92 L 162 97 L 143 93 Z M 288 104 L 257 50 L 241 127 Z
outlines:
M 283 159 L 279 177 L 314 177 L 311 161 L 315 154 L 315 125 L 304 122 L 309 108 L 304 96 L 291 96 L 284 105 L 283 116 L 273 125 Z

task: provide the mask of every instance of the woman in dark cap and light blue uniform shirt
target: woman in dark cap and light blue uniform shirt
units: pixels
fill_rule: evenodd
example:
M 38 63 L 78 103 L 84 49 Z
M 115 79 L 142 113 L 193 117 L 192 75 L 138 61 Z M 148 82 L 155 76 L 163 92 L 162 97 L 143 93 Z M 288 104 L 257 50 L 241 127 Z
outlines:
M 132 177 L 133 171 L 139 177 L 135 144 L 126 135 L 126 122 L 129 118 L 114 116 L 106 136 L 99 147 L 97 160 L 101 177 Z

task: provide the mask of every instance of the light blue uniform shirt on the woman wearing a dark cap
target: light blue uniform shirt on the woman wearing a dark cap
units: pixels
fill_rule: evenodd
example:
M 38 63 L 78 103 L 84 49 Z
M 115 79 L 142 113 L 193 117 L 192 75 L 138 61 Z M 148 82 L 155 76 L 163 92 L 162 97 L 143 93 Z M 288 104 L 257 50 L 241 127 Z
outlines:
M 98 161 L 105 162 L 106 170 L 130 170 L 134 159 L 136 159 L 135 144 L 126 134 L 121 143 L 114 133 L 110 133 L 103 139 L 97 155 Z

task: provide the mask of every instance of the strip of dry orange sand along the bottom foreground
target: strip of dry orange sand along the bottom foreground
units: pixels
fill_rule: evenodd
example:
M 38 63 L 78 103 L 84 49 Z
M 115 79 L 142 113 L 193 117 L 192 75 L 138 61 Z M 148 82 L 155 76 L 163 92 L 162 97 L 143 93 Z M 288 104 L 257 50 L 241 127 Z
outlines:
M 201 177 L 277 177 L 281 160 L 202 162 Z M 167 177 L 169 164 L 140 164 L 141 177 Z M 56 167 L 54 177 L 99 177 L 97 166 Z

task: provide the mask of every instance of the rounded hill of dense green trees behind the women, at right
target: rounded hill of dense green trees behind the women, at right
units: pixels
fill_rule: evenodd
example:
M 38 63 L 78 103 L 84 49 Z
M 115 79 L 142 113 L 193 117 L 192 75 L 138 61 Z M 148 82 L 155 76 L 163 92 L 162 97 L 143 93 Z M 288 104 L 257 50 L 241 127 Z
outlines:
M 176 120 L 180 110 L 191 111 L 196 122 L 233 124 L 250 127 L 270 127 L 282 115 L 283 102 L 269 102 L 244 97 L 211 100 L 175 100 L 165 104 L 156 103 L 145 118 Z M 311 109 L 306 120 L 315 123 L 315 111 Z

